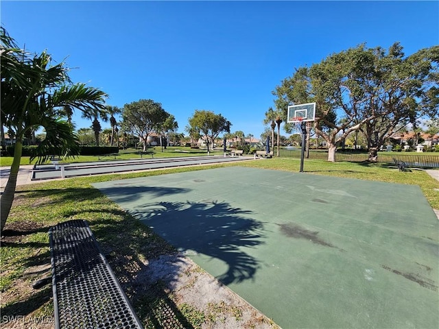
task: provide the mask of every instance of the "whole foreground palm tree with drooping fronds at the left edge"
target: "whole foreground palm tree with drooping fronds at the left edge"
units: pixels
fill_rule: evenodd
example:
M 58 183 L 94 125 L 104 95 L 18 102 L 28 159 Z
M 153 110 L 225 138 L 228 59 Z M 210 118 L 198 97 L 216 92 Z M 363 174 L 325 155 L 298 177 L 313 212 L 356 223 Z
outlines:
M 107 95 L 101 90 L 72 84 L 64 62 L 50 66 L 45 51 L 31 55 L 19 47 L 0 27 L 1 54 L 1 123 L 15 136 L 14 159 L 5 191 L 0 198 L 0 232 L 8 219 L 20 169 L 23 139 L 37 127 L 44 127 L 45 140 L 38 145 L 31 161 L 45 162 L 51 155 L 79 154 L 78 139 L 73 126 L 60 117 L 57 109 L 64 106 L 81 111 L 91 108 L 105 110 Z

